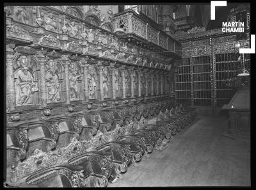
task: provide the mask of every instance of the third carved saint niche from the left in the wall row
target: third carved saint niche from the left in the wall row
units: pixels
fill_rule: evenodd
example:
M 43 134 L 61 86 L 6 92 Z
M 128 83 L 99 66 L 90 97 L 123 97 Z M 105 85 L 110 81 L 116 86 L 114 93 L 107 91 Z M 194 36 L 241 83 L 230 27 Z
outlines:
M 69 67 L 70 100 L 80 100 L 81 98 L 81 70 L 79 61 L 71 61 Z

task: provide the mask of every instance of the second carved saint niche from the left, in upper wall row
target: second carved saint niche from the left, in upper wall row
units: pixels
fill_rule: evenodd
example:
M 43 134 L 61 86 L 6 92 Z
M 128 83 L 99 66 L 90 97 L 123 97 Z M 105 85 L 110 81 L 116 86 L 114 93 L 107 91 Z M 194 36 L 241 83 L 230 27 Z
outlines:
M 63 65 L 56 59 L 49 59 L 45 66 L 47 102 L 60 102 L 63 89 Z

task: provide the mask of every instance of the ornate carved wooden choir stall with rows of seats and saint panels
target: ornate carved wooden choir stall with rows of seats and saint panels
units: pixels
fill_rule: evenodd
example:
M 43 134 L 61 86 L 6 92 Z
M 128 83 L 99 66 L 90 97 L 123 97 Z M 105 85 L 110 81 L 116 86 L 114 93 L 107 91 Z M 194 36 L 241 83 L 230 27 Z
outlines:
M 132 10 L 4 10 L 9 186 L 106 187 L 195 119 L 165 61 L 180 44 Z

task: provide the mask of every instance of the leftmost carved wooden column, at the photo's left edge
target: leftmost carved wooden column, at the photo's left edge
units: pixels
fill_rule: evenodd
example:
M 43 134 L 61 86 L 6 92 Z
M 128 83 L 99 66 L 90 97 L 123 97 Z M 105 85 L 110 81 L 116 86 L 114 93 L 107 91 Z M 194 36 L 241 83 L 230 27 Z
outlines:
M 14 84 L 14 74 L 13 74 L 13 51 L 12 47 L 15 47 L 14 44 L 7 45 L 6 47 L 6 107 L 13 111 L 16 106 L 16 97 L 15 97 L 15 84 Z

